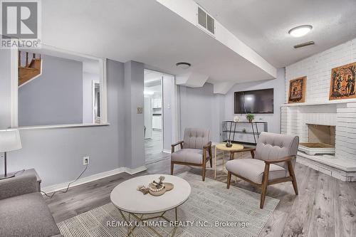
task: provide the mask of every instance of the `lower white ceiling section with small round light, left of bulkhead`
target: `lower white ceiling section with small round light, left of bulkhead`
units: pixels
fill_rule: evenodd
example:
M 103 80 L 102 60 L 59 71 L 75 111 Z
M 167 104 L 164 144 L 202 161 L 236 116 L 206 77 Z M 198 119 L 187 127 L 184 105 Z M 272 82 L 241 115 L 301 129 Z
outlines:
M 121 62 L 136 60 L 173 75 L 194 71 L 209 75 L 211 83 L 271 79 L 155 0 L 42 1 L 42 42 Z M 192 67 L 177 68 L 181 61 Z

